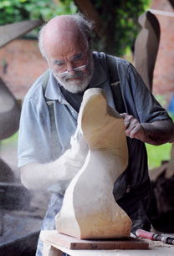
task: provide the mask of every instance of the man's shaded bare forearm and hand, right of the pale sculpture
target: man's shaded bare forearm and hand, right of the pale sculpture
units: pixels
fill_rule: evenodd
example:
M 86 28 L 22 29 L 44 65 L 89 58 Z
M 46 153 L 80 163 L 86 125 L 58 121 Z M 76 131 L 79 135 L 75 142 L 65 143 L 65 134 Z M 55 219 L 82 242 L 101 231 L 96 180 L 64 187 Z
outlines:
M 174 124 L 170 119 L 141 124 L 133 115 L 120 115 L 125 120 L 125 135 L 132 139 L 156 146 L 174 141 Z

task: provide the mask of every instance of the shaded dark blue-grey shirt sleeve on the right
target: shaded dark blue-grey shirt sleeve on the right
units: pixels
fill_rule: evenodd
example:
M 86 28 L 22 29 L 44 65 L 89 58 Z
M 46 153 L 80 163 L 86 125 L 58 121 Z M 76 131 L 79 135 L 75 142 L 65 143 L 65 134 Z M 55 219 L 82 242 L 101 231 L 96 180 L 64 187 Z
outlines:
M 141 123 L 170 118 L 157 102 L 132 64 L 118 64 L 125 110 Z

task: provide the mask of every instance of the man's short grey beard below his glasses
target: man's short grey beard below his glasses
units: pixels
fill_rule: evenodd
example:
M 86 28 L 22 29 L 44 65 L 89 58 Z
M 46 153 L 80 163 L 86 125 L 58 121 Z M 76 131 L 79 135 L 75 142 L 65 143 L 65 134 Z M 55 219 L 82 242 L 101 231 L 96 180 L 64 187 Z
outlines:
M 86 88 L 90 84 L 90 80 L 92 79 L 92 77 L 94 75 L 94 61 L 93 61 L 93 59 L 91 59 L 90 74 L 87 75 L 87 74 L 84 74 L 81 71 L 79 72 L 79 74 L 84 76 L 83 82 L 81 82 L 81 81 L 78 81 L 78 82 L 70 81 L 70 80 L 67 80 L 66 77 L 58 78 L 55 75 L 54 75 L 54 77 L 59 82 L 59 84 L 64 87 L 65 90 L 68 90 L 69 92 L 74 93 L 74 94 L 79 93 L 79 92 L 83 92 L 84 90 L 86 90 Z

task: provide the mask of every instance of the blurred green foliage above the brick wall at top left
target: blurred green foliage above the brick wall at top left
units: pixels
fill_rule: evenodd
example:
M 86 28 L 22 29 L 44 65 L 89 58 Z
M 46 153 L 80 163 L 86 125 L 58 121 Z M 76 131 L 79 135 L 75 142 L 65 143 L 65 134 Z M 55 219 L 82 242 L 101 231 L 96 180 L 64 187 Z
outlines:
M 59 4 L 51 0 L 1 0 L 0 25 L 31 19 L 46 21 L 56 15 L 76 11 L 77 8 L 71 0 Z

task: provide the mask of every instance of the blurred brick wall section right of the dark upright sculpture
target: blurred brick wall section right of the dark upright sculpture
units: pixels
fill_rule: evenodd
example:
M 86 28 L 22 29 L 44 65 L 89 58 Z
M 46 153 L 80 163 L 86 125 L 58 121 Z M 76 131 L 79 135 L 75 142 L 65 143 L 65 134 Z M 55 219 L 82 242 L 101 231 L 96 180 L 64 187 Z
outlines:
M 173 13 L 173 8 L 167 0 L 153 0 L 151 2 L 151 9 Z M 161 40 L 152 91 L 154 95 L 165 95 L 169 102 L 174 93 L 174 17 L 155 15 L 161 26 Z

